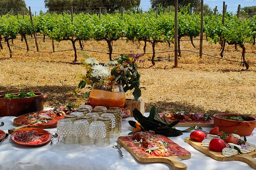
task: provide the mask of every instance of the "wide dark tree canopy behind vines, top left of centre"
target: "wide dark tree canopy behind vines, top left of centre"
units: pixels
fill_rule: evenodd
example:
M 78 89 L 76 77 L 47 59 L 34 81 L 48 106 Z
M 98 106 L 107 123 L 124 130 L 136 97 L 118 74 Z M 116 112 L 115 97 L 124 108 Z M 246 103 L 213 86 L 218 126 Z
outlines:
M 113 11 L 120 7 L 130 9 L 140 5 L 140 0 L 44 0 L 44 2 L 49 11 L 70 10 L 70 6 L 73 6 L 74 12 L 99 10 L 99 7 Z

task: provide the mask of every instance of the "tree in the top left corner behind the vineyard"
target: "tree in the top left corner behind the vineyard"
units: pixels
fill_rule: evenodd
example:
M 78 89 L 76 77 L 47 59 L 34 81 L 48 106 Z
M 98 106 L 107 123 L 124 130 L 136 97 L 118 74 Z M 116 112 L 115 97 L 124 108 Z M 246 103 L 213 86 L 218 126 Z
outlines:
M 0 0 L 0 11 L 4 11 L 4 13 L 24 11 L 27 13 L 28 9 L 24 0 Z

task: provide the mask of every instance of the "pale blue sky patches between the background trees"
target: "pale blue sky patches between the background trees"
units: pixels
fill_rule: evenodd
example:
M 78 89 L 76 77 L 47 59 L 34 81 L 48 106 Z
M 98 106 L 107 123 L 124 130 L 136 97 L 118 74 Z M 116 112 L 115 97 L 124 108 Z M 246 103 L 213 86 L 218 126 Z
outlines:
M 36 12 L 39 14 L 40 10 L 43 10 L 43 12 L 46 12 L 47 9 L 44 7 L 44 0 L 25 0 L 27 7 L 31 7 L 32 13 Z M 204 0 L 204 4 L 208 4 L 209 7 L 212 9 L 217 7 L 218 12 L 222 11 L 222 5 L 223 1 L 220 0 Z M 227 5 L 227 11 L 232 11 L 233 13 L 236 13 L 237 7 L 240 4 L 241 8 L 245 6 L 256 6 L 256 0 L 225 0 L 225 4 Z M 150 0 L 141 0 L 140 6 L 143 11 L 147 11 L 151 4 Z

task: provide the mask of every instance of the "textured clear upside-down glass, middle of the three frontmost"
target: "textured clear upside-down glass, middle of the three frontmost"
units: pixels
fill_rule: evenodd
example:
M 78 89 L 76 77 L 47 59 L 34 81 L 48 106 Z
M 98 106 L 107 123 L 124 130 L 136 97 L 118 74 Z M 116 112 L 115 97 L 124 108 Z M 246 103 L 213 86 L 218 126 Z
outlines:
M 87 120 L 77 120 L 74 122 L 74 135 L 78 137 L 78 141 L 81 145 L 89 145 L 89 123 Z

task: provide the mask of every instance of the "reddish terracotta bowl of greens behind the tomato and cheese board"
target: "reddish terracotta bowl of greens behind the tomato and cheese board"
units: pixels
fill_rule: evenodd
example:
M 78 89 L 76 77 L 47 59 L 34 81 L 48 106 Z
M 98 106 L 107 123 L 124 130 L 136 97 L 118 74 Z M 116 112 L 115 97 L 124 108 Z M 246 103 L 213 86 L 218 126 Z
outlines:
M 249 136 L 256 125 L 256 119 L 251 116 L 247 116 L 250 121 L 233 121 L 220 118 L 221 116 L 243 116 L 237 114 L 216 114 L 213 115 L 215 127 L 219 127 L 219 131 L 227 131 L 229 133 L 235 133 L 240 136 Z

